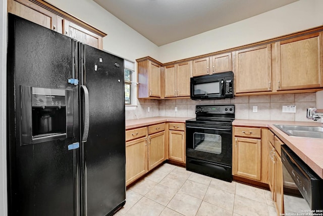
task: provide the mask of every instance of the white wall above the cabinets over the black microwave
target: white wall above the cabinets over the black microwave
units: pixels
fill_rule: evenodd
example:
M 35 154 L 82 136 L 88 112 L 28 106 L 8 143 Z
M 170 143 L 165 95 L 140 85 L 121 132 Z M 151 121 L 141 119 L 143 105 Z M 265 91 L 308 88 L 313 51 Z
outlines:
M 231 25 L 160 46 L 160 58 L 157 60 L 161 63 L 172 62 L 320 26 L 323 25 L 322 11 L 323 1 L 300 0 Z

